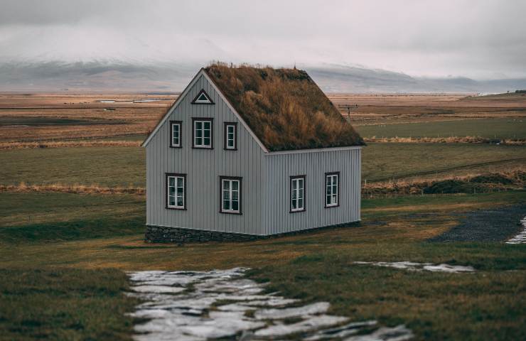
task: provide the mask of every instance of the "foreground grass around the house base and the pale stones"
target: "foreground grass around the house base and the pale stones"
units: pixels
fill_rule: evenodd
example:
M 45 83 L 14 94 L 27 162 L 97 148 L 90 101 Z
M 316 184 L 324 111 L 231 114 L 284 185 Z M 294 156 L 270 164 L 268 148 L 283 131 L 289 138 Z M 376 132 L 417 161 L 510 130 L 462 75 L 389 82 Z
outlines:
M 250 276 L 271 281 L 271 291 L 304 301 L 330 301 L 333 313 L 354 320 L 405 323 L 417 340 L 526 336 L 526 245 L 426 242 L 462 219 L 463 211 L 524 202 L 525 192 L 364 200 L 363 222 L 353 227 L 184 247 L 144 244 L 139 224 L 119 231 L 109 211 L 101 210 L 98 221 L 69 217 L 69 205 L 75 202 L 66 193 L 24 196 L 57 216 L 41 224 L 0 228 L 0 326 L 6 331 L 0 339 L 126 340 L 132 321 L 123 313 L 134 301 L 120 294 L 127 289 L 122 271 L 232 266 L 252 267 Z M 0 197 L 3 203 L 16 200 L 9 193 Z M 123 197 L 132 210 L 144 212 L 144 202 Z M 112 205 L 108 196 L 82 200 L 93 207 Z M 16 205 L 4 212 L 16 221 Z M 45 228 L 61 220 L 60 215 L 64 223 L 54 224 L 52 238 L 18 232 Z M 75 229 L 79 220 L 85 221 L 81 234 Z M 108 225 L 115 228 L 97 234 L 100 226 Z M 477 272 L 415 273 L 352 264 L 380 260 L 447 262 L 471 265 Z

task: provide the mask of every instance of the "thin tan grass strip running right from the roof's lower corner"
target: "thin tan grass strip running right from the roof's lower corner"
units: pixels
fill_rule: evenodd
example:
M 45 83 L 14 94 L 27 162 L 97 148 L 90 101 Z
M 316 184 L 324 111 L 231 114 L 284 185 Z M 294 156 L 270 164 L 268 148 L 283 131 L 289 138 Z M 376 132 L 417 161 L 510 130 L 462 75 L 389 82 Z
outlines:
M 404 143 L 404 144 L 508 144 L 513 146 L 526 145 L 526 139 L 488 139 L 479 136 L 451 136 L 451 137 L 382 137 L 372 136 L 364 138 L 365 142 L 382 142 L 382 143 Z

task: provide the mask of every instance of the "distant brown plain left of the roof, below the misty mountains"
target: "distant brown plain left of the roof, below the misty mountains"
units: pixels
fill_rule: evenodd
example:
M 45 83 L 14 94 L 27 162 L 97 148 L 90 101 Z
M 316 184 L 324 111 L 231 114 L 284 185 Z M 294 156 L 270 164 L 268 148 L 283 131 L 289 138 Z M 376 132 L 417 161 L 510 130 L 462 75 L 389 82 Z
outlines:
M 134 99 L 162 97 L 159 102 L 134 103 Z M 165 98 L 166 97 L 166 98 Z M 176 99 L 176 95 L 151 94 L 0 94 L 0 141 L 33 142 L 70 139 L 104 139 L 148 134 Z M 115 103 L 100 103 L 114 99 Z M 115 110 L 104 110 L 108 107 Z M 6 124 L 18 119 L 74 119 L 81 124 Z

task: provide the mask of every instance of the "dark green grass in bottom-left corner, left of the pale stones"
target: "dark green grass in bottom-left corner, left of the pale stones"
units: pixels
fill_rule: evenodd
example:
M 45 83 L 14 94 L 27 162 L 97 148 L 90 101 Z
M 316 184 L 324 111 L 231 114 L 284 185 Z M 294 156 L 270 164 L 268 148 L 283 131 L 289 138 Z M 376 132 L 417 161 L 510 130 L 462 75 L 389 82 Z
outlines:
M 112 269 L 0 269 L 0 340 L 130 340 L 128 288 Z

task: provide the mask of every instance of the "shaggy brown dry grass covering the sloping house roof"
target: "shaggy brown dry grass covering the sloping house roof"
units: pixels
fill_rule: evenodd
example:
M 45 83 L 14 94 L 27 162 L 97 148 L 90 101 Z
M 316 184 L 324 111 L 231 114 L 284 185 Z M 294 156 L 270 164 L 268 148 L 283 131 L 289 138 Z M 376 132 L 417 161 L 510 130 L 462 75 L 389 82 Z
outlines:
M 205 70 L 271 151 L 363 144 L 303 70 L 222 63 Z

